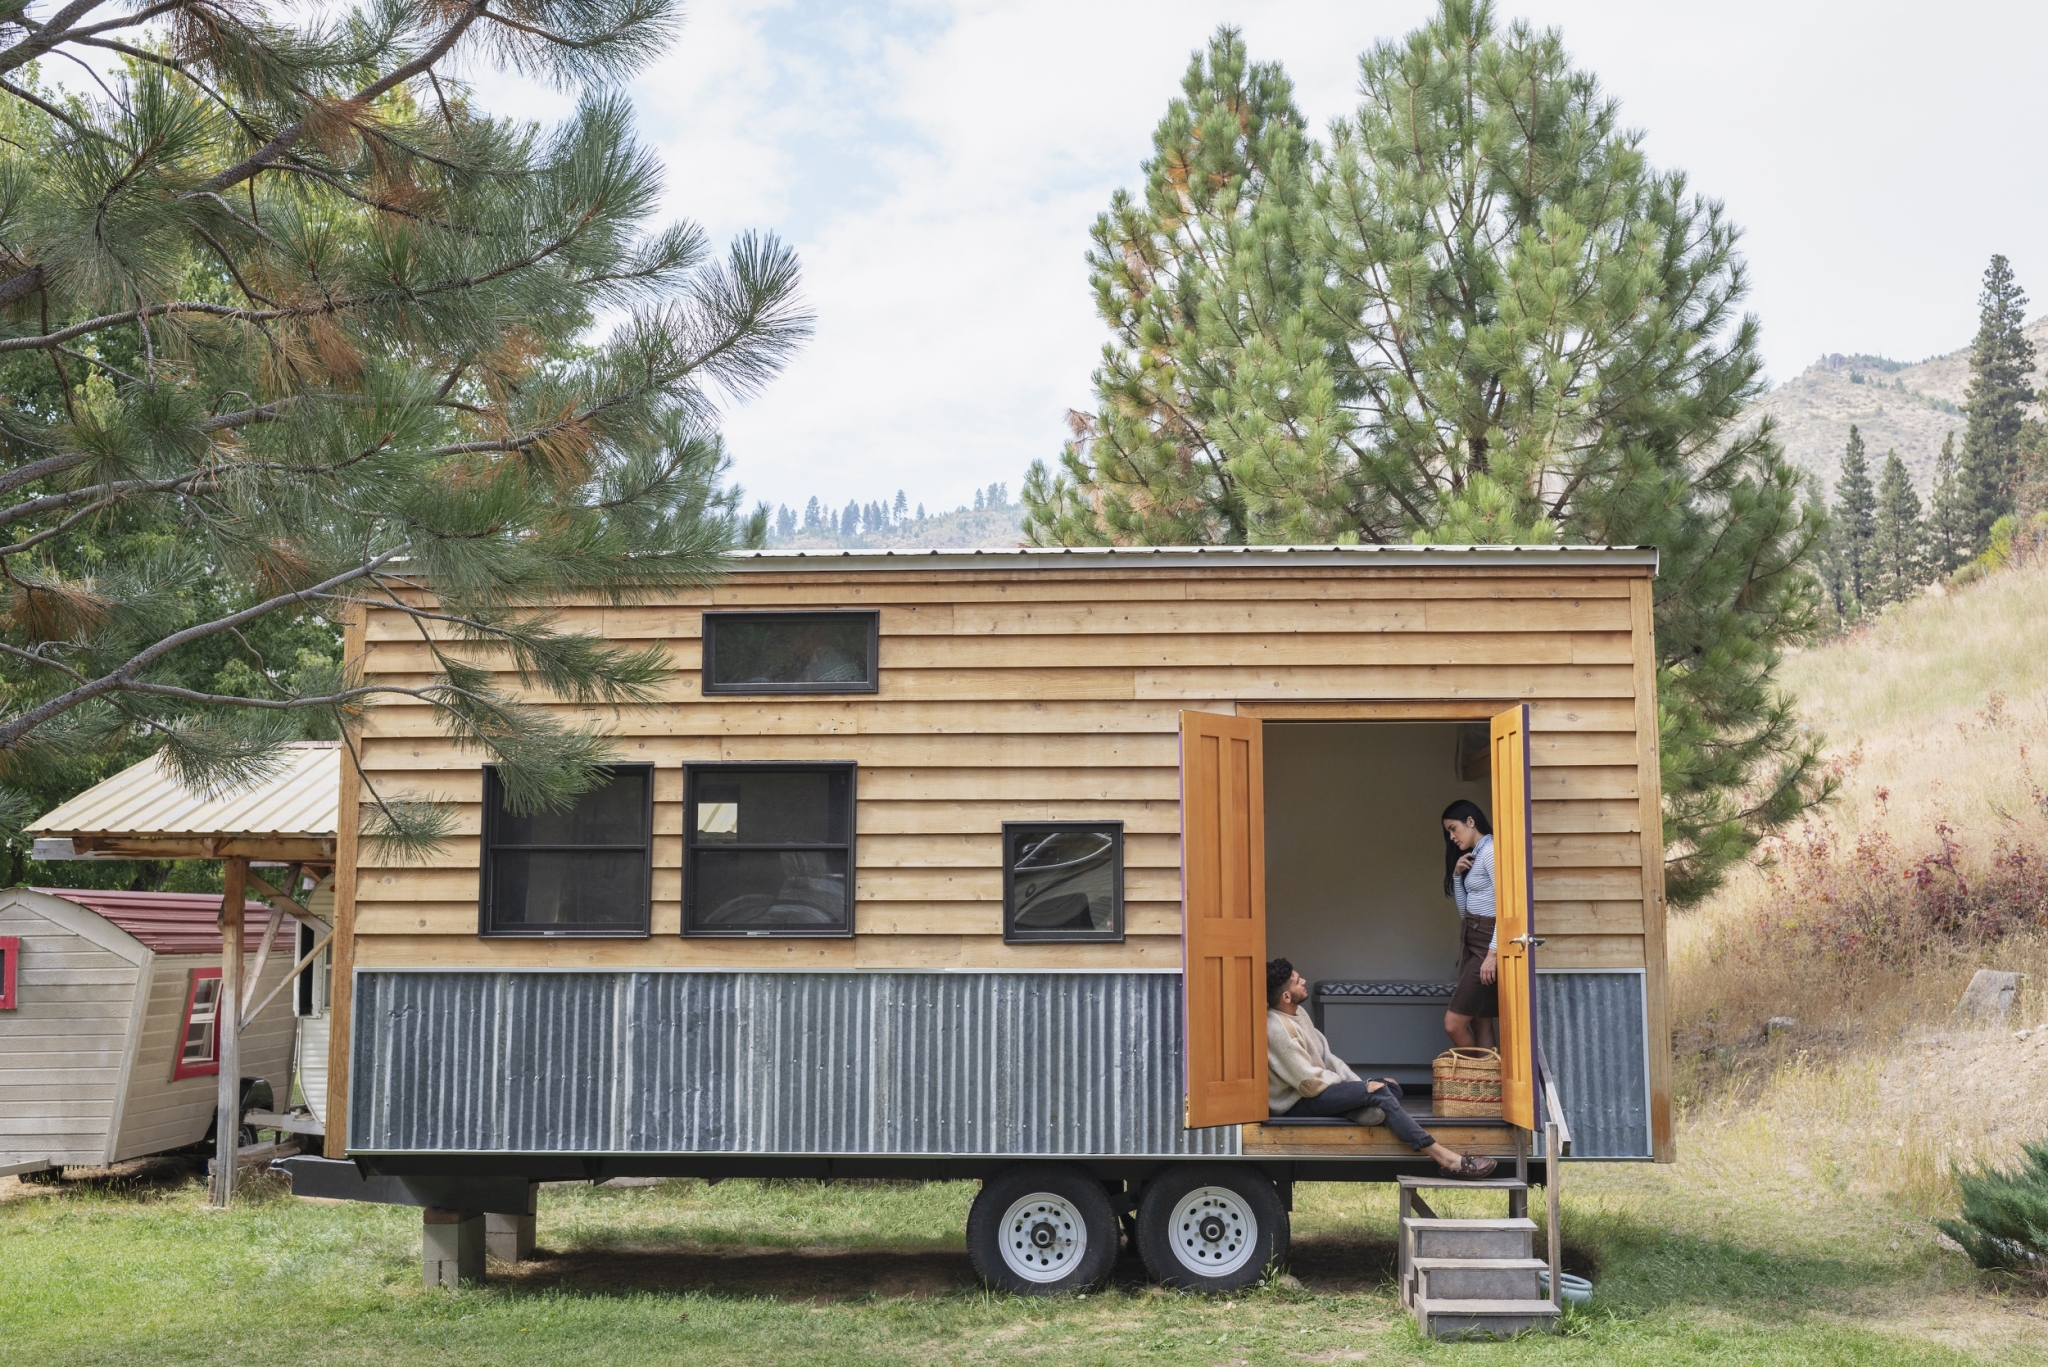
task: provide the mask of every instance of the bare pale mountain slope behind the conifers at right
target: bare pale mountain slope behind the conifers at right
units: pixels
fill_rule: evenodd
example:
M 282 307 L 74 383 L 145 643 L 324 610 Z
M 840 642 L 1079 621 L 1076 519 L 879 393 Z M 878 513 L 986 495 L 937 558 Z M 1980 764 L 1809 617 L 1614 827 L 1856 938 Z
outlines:
M 2028 336 L 2034 353 L 2048 361 L 2048 318 L 2036 320 Z M 2036 373 L 2036 385 L 2040 381 L 2042 375 Z M 1884 453 L 1896 447 L 1925 496 L 1933 484 L 1942 439 L 1954 430 L 1956 441 L 1962 441 L 1962 398 L 1968 385 L 1968 346 L 1917 365 L 1882 357 L 1823 357 L 1763 396 L 1743 420 L 1753 422 L 1763 414 L 1776 418 L 1786 455 L 1819 475 L 1829 496 L 1853 422 L 1864 432 L 1872 478 Z

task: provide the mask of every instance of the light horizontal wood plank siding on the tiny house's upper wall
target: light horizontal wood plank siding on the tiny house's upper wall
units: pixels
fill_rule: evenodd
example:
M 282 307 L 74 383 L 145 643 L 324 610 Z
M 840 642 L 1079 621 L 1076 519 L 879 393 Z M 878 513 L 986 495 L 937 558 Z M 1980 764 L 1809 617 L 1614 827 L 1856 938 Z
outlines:
M 653 937 L 479 939 L 479 756 L 426 707 L 393 703 L 369 715 L 365 769 L 385 793 L 449 803 L 455 838 L 418 865 L 365 851 L 356 963 L 1178 969 L 1182 709 L 1477 717 L 1528 701 L 1542 963 L 1640 967 L 1630 598 L 1640 574 L 817 568 L 735 574 L 659 605 L 569 607 L 567 625 L 666 646 L 676 666 L 659 705 L 590 713 L 621 758 L 657 767 Z M 707 607 L 879 609 L 881 687 L 707 699 Z M 375 678 L 410 682 L 430 668 L 430 648 L 397 613 L 369 611 L 365 639 Z M 532 705 L 573 715 L 545 697 Z M 719 760 L 860 764 L 854 939 L 678 939 L 682 767 Z M 1124 822 L 1124 945 L 1001 943 L 1008 820 Z

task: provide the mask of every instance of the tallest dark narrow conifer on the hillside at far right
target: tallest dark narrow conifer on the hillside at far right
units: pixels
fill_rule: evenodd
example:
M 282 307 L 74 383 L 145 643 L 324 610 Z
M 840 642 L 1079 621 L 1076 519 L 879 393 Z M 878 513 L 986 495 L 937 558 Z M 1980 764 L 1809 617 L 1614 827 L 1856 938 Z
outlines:
M 1970 344 L 1970 389 L 1964 406 L 1962 469 L 1970 496 L 1970 553 L 1985 549 L 1991 525 L 2013 512 L 2019 478 L 2019 434 L 2034 402 L 2034 342 L 2028 340 L 2028 295 L 2011 262 L 1993 256 L 1978 295 L 1976 340 Z

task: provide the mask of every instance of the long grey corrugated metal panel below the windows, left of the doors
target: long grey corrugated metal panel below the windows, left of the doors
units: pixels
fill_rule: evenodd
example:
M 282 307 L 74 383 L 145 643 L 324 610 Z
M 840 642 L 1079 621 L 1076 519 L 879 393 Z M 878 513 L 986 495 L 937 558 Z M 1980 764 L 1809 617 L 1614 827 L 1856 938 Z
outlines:
M 356 976 L 356 1152 L 1235 1154 L 1174 974 Z

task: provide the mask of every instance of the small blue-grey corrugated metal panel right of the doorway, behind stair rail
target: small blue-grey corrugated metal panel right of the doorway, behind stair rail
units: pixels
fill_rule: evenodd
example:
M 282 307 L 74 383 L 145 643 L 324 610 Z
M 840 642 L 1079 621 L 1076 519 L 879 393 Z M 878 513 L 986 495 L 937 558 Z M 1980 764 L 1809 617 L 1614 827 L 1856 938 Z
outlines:
M 1651 1156 L 1642 974 L 1536 974 L 1536 1033 L 1573 1158 Z

